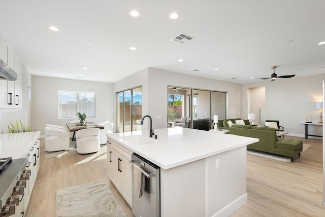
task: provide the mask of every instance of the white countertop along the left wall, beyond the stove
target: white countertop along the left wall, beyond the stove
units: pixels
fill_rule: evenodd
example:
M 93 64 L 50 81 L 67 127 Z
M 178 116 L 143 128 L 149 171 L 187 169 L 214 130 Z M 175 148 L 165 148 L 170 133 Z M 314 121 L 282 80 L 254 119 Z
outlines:
M 0 134 L 0 158 L 21 158 L 30 141 L 39 134 L 40 131 Z

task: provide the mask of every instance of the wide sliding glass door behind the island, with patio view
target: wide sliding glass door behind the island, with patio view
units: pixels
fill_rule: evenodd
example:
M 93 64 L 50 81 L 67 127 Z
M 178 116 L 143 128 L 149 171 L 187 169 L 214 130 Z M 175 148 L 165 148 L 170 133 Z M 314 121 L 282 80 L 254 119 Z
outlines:
M 213 115 L 227 117 L 227 93 L 168 87 L 168 127 L 182 126 L 209 130 Z

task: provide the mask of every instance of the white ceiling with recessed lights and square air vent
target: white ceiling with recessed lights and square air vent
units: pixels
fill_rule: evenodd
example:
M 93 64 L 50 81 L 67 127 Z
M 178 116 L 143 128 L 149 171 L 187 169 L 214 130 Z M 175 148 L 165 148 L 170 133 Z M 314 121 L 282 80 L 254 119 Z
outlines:
M 241 84 L 273 65 L 324 74 L 324 20 L 323 0 L 0 0 L 0 33 L 32 75 L 100 82 L 146 67 Z M 180 33 L 194 39 L 170 41 Z

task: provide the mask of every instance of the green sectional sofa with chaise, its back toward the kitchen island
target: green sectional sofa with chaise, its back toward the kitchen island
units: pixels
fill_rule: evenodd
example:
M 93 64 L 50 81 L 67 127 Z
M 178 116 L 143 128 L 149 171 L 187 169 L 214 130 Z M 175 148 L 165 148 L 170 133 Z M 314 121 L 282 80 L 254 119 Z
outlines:
M 288 156 L 291 162 L 303 151 L 302 140 L 278 138 L 275 128 L 271 127 L 234 124 L 229 128 L 229 134 L 258 138 L 259 141 L 249 144 L 247 149 Z

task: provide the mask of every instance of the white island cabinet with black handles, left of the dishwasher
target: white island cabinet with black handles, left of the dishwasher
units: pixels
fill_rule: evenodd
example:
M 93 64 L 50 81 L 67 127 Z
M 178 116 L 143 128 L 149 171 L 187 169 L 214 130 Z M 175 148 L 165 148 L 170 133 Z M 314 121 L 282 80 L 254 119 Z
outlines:
M 107 144 L 107 172 L 114 186 L 132 207 L 132 167 L 133 152 L 109 139 Z

